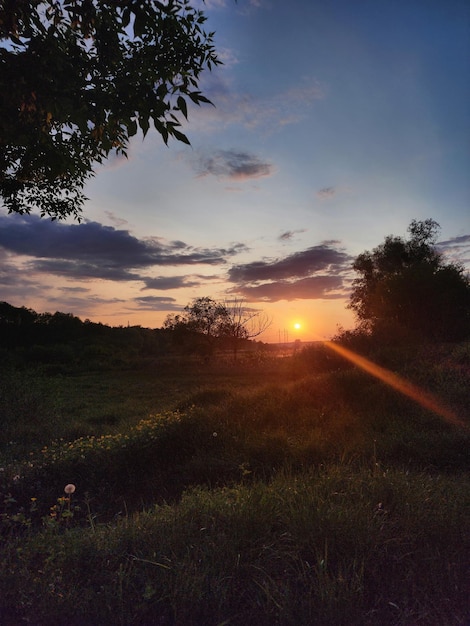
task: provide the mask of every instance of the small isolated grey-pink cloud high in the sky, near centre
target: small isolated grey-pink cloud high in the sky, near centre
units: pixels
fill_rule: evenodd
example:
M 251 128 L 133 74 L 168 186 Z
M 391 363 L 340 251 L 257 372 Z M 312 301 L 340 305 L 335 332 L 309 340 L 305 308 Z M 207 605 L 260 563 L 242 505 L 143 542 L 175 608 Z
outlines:
M 198 164 L 200 176 L 212 174 L 217 178 L 235 181 L 270 176 L 272 172 L 273 166 L 270 163 L 263 162 L 248 152 L 236 150 L 220 150 L 213 156 L 202 158 Z

